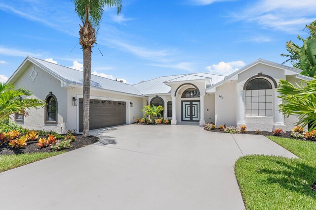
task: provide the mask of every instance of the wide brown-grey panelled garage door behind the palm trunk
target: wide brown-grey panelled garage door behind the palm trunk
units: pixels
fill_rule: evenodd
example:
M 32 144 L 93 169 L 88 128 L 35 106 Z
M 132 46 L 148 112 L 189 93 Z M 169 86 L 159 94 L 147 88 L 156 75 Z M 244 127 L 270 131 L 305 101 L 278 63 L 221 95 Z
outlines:
M 90 129 L 126 124 L 126 102 L 90 100 Z M 79 131 L 83 130 L 83 99 L 79 98 Z

